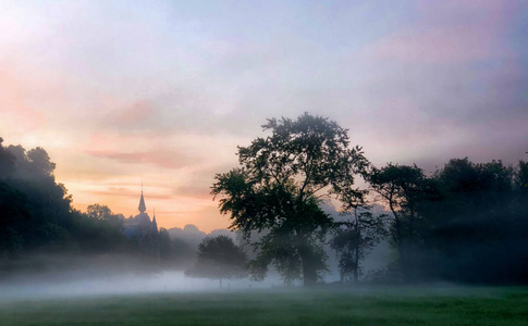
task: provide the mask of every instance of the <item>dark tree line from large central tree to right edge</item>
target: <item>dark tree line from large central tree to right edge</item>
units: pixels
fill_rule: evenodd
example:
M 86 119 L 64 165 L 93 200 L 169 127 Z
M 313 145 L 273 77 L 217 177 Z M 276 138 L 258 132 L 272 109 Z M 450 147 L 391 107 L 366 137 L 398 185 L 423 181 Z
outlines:
M 217 174 L 211 191 L 254 250 L 255 279 L 273 266 L 286 283 L 314 285 L 330 243 L 342 280 L 357 281 L 361 259 L 388 240 L 395 256 L 376 279 L 528 283 L 526 162 L 452 159 L 427 175 L 417 165 L 373 166 L 326 117 L 271 118 L 262 128 L 270 135 L 238 147 L 240 166 Z M 356 187 L 357 178 L 368 187 Z M 324 199 L 349 218 L 332 218 Z

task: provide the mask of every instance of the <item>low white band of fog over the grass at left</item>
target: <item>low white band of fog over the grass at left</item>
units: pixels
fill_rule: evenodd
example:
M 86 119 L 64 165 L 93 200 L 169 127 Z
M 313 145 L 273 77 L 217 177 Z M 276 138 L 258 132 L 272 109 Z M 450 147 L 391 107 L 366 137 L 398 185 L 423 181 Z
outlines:
M 282 285 L 277 275 L 263 281 L 186 277 L 183 271 L 109 272 L 115 266 L 100 269 L 70 269 L 63 272 L 32 272 L 0 279 L 0 301 L 44 300 L 51 298 L 114 296 L 161 292 L 219 292 L 263 289 Z

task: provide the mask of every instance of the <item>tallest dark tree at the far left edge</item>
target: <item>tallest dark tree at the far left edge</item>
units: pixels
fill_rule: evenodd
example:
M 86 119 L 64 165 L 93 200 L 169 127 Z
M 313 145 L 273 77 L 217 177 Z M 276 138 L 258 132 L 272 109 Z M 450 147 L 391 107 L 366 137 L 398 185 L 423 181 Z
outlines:
M 12 239 L 17 239 L 17 247 L 58 250 L 71 239 L 67 230 L 72 226 L 71 198 L 64 186 L 56 183 L 54 166 L 42 148 L 26 152 L 22 146 L 0 145 L 0 179 L 4 190 L 11 188 L 0 200 L 10 201 L 14 193 L 20 193 L 13 208 L 2 213 L 9 215 L 2 216 L 2 224 L 9 223 L 4 229 L 9 229 Z

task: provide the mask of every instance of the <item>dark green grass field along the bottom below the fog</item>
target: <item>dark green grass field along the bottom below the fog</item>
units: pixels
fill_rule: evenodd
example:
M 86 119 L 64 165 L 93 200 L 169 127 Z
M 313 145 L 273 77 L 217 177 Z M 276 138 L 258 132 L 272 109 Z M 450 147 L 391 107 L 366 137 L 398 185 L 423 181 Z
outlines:
M 528 288 L 359 288 L 0 302 L 0 325 L 528 325 Z

